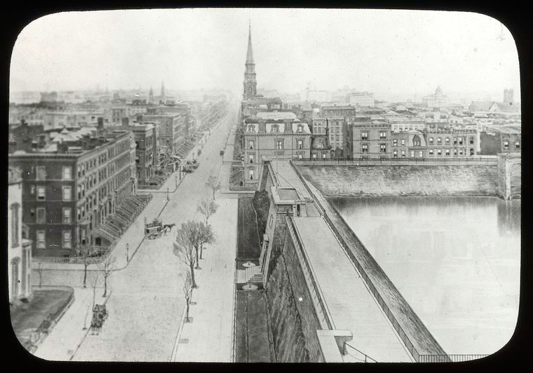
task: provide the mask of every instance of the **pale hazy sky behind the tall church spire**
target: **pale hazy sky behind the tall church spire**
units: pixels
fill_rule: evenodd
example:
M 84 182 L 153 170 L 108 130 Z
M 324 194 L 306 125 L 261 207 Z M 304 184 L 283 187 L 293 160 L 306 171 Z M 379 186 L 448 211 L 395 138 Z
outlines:
M 493 18 L 442 11 L 184 9 L 68 12 L 30 23 L 11 90 L 229 88 L 241 94 L 248 20 L 259 88 L 391 95 L 515 89 L 518 53 Z M 502 37 L 503 36 L 503 37 Z

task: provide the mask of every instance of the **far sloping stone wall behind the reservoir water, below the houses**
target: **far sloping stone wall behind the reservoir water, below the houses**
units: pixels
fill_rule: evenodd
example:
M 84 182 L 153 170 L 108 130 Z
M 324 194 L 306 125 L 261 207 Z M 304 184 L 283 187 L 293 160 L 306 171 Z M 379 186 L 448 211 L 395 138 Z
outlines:
M 297 165 L 326 196 L 496 196 L 497 165 Z

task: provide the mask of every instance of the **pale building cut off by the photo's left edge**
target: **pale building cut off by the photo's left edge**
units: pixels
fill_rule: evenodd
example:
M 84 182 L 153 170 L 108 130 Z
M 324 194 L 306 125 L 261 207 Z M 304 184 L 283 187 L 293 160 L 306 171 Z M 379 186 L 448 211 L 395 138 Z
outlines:
M 9 302 L 32 295 L 32 241 L 22 226 L 22 176 L 8 169 L 8 290 Z

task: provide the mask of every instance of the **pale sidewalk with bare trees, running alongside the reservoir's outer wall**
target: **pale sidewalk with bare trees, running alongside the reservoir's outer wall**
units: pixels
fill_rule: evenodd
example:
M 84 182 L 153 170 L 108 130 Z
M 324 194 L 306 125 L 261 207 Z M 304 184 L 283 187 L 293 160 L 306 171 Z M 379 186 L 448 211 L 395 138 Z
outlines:
M 182 324 L 172 361 L 231 362 L 238 201 L 224 198 L 219 203 L 210 219 L 217 243 L 203 252 L 192 297 L 196 304 L 189 310 L 193 320 Z

